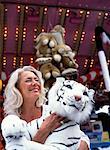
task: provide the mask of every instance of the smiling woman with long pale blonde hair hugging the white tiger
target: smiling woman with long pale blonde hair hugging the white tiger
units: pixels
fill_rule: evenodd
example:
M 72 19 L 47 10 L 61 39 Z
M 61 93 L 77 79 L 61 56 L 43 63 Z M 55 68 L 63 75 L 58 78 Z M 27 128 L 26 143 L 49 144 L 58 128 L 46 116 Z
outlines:
M 45 102 L 45 88 L 41 73 L 31 66 L 19 68 L 11 74 L 4 92 L 5 115 L 15 114 L 30 122 L 42 116 L 42 104 Z M 50 132 L 62 125 L 63 117 L 53 113 L 45 119 L 33 141 L 44 143 Z M 82 140 L 79 150 L 88 150 Z

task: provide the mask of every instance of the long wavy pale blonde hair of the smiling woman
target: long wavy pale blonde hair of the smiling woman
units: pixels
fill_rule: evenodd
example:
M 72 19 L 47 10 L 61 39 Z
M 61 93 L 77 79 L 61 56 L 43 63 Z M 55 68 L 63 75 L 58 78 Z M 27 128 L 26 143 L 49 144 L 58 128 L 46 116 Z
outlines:
M 35 73 L 41 83 L 41 93 L 39 95 L 39 99 L 37 100 L 36 106 L 40 107 L 46 100 L 44 82 L 41 72 L 36 70 L 32 66 L 24 66 L 23 68 L 18 68 L 11 74 L 4 91 L 4 115 L 15 114 L 17 116 L 20 116 L 20 108 L 23 103 L 23 97 L 16 85 L 17 82 L 19 82 L 19 75 L 24 71 L 31 71 Z

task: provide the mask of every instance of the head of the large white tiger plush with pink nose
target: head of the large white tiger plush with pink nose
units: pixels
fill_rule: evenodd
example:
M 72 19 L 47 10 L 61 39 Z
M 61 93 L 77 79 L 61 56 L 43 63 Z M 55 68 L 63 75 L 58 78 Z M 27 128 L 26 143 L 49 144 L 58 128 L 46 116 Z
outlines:
M 91 114 L 94 93 L 81 83 L 59 77 L 48 93 L 50 110 L 75 122 L 83 122 Z

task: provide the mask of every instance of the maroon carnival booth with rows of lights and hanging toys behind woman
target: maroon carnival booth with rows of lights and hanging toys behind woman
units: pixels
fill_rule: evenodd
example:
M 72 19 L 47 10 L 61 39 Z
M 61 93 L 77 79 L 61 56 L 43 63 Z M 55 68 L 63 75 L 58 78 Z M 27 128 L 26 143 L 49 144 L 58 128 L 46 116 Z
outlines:
M 0 1 L 0 123 L 10 74 L 31 65 L 41 71 L 47 95 L 58 77 L 95 91 L 81 129 L 91 150 L 110 150 L 109 6 L 104 0 Z

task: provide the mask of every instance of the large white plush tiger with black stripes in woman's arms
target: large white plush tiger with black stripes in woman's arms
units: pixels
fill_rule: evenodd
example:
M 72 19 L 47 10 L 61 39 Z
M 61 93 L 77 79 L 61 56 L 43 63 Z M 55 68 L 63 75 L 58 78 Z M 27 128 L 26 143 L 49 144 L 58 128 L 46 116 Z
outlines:
M 43 115 L 26 123 L 15 115 L 2 121 L 2 134 L 6 150 L 77 150 L 83 136 L 79 123 L 85 121 L 93 108 L 94 90 L 73 81 L 57 78 L 48 93 L 48 106 L 43 106 Z M 55 129 L 44 144 L 33 142 L 43 120 L 50 114 L 67 117 L 68 121 Z

